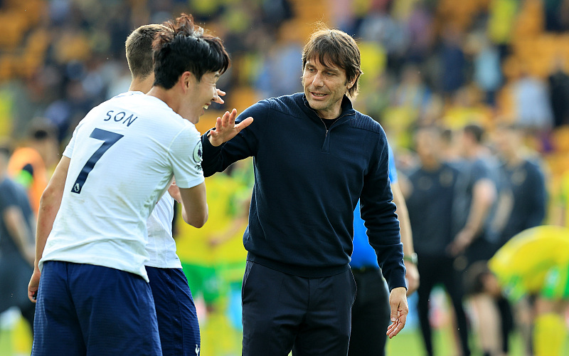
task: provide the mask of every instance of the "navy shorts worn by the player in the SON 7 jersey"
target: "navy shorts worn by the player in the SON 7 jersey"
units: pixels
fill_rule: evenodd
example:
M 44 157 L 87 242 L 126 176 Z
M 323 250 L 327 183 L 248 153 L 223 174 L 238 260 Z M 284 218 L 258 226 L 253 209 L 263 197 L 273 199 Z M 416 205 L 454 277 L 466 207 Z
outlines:
M 32 355 L 162 355 L 149 284 L 115 268 L 43 263 Z

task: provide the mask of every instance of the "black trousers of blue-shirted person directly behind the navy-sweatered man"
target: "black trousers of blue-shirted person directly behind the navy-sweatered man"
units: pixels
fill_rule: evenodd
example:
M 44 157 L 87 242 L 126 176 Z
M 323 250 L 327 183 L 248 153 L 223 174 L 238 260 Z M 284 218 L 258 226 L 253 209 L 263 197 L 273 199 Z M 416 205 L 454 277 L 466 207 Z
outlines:
M 384 356 L 390 325 L 389 292 L 378 268 L 353 269 L 358 293 L 351 308 L 349 356 Z

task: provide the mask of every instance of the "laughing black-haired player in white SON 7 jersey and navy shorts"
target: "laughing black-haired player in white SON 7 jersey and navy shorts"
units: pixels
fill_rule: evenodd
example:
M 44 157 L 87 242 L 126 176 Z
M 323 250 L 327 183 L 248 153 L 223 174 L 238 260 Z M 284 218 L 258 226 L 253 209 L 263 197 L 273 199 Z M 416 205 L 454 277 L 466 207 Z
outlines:
M 148 95 L 124 93 L 92 109 L 43 192 L 28 286 L 37 296 L 32 355 L 161 355 L 144 268 L 147 219 L 174 176 L 184 220 L 205 224 L 192 124 L 229 66 L 220 40 L 194 31 L 190 16 L 169 27 L 154 41 Z

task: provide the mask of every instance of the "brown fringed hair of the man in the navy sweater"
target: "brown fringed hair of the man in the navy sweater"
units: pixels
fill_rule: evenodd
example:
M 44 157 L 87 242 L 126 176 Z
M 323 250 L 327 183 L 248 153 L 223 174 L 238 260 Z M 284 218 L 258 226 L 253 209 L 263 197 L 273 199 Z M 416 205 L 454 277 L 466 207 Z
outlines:
M 348 96 L 356 98 L 359 90 L 361 71 L 360 49 L 356 41 L 344 31 L 328 28 L 324 23 L 317 24 L 318 30 L 312 33 L 308 43 L 302 49 L 302 70 L 307 61 L 317 59 L 324 66 L 336 66 L 346 71 L 346 83 L 353 80 L 348 89 Z

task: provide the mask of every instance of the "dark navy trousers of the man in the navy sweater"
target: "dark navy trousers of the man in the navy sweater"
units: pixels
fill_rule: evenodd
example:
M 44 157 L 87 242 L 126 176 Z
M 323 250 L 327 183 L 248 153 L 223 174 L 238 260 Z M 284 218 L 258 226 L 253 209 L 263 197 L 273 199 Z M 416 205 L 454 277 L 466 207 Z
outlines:
M 303 278 L 247 261 L 243 355 L 346 356 L 356 283 L 351 271 Z

